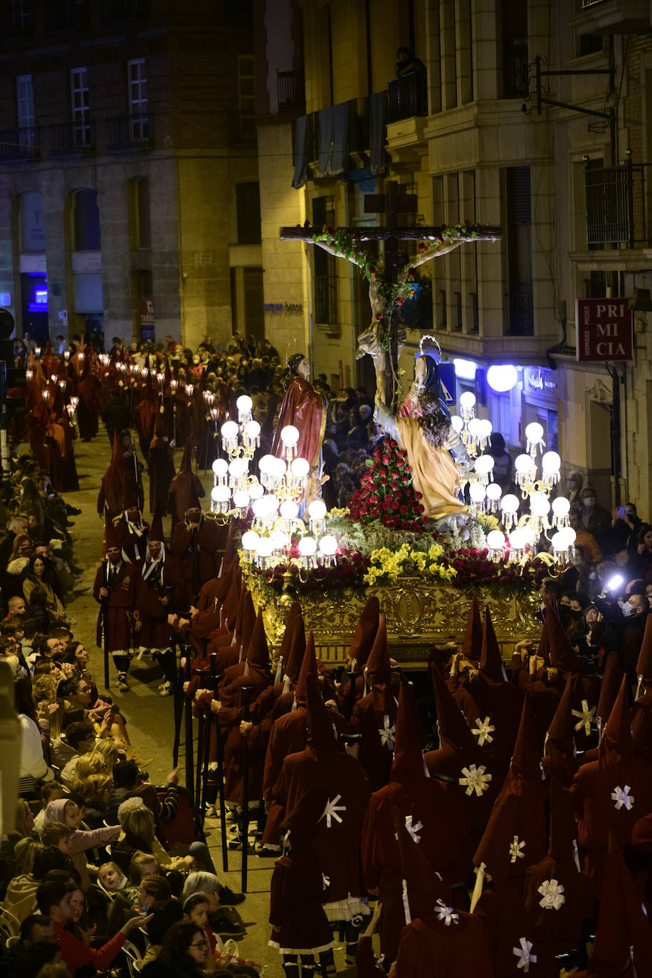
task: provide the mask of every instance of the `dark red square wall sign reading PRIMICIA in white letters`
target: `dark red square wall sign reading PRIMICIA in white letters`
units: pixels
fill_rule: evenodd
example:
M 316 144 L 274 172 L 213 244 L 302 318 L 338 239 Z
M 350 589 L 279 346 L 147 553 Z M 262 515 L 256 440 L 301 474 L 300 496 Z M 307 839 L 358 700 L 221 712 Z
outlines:
M 578 299 L 577 328 L 578 360 L 604 363 L 632 359 L 633 314 L 629 299 Z

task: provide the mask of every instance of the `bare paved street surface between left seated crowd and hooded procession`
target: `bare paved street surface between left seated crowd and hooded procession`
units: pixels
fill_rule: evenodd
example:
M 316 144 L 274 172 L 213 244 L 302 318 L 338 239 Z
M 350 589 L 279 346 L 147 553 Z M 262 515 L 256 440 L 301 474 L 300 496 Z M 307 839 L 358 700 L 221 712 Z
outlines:
M 110 461 L 109 439 L 104 430 L 90 443 L 77 442 L 77 471 L 79 473 L 80 490 L 77 493 L 65 494 L 66 502 L 79 507 L 81 515 L 74 517 L 74 526 L 70 532 L 74 541 L 74 555 L 78 566 L 84 568 L 83 576 L 78 579 L 76 591 L 67 602 L 68 617 L 74 628 L 76 639 L 83 641 L 91 655 L 91 669 L 97 680 L 99 689 L 104 687 L 103 656 L 96 645 L 96 623 L 98 604 L 93 599 L 93 583 L 99 565 L 102 550 L 103 521 L 97 513 L 97 496 L 100 480 Z M 180 456 L 177 457 L 177 464 Z M 212 476 L 203 475 L 199 471 L 206 487 L 206 496 L 212 486 Z M 145 498 L 149 499 L 149 485 L 145 474 Z M 147 504 L 146 504 L 147 515 Z M 169 534 L 169 517 L 163 523 L 163 529 Z M 160 783 L 172 766 L 172 744 L 174 739 L 174 717 L 171 697 L 157 695 L 156 686 L 160 682 L 158 668 L 147 658 L 132 665 L 130 673 L 131 689 L 129 692 L 118 692 L 114 688 L 116 674 L 110 665 L 109 684 L 110 694 L 114 702 L 120 704 L 120 709 L 128 721 L 131 740 L 142 757 L 151 757 L 149 767 L 152 783 Z M 180 755 L 181 782 L 184 780 L 183 747 Z M 222 870 L 222 851 L 220 846 L 219 823 L 213 820 L 205 822 L 207 842 L 217 867 L 220 878 L 227 882 L 235 891 L 240 890 L 239 852 L 229 853 L 229 873 Z M 247 899 L 239 908 L 230 911 L 234 919 L 240 919 L 246 927 L 246 936 L 239 940 L 239 950 L 242 956 L 259 961 L 266 966 L 266 975 L 281 976 L 283 968 L 280 956 L 269 948 L 267 941 L 270 926 L 267 922 L 269 914 L 269 884 L 274 863 L 272 860 L 261 860 L 256 856 L 249 857 Z M 336 952 L 335 960 L 338 971 L 355 974 L 356 969 L 344 972 L 344 950 Z

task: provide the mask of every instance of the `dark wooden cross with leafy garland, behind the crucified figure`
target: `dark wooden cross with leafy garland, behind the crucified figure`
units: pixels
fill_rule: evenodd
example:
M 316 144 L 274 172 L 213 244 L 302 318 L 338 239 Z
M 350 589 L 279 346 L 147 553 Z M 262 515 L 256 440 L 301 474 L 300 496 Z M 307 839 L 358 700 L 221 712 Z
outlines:
M 450 229 L 445 226 L 427 226 L 422 225 L 413 227 L 401 227 L 399 225 L 399 216 L 401 214 L 415 213 L 417 198 L 413 194 L 399 194 L 398 185 L 395 181 L 387 181 L 385 184 L 386 193 L 385 194 L 368 194 L 365 196 L 365 212 L 366 213 L 384 213 L 385 215 L 385 226 L 384 227 L 359 227 L 359 228 L 335 228 L 333 230 L 332 237 L 334 238 L 338 232 L 346 232 L 348 235 L 352 236 L 355 240 L 356 249 L 354 253 L 345 254 L 342 250 L 338 250 L 337 246 L 330 244 L 325 241 L 315 241 L 315 237 L 324 233 L 324 228 L 314 228 L 310 224 L 306 224 L 303 227 L 294 228 L 282 228 L 281 229 L 281 241 L 301 241 L 306 244 L 317 244 L 320 247 L 328 251 L 329 254 L 335 255 L 337 258 L 347 258 L 355 265 L 363 266 L 364 270 L 364 258 L 369 258 L 364 252 L 364 248 L 358 248 L 358 243 L 362 242 L 384 242 L 384 265 L 385 265 L 385 282 L 391 282 L 396 285 L 400 284 L 401 276 L 405 271 L 405 264 L 400 262 L 399 258 L 399 242 L 422 242 L 429 243 L 425 247 L 423 244 L 419 245 L 423 248 L 422 253 L 417 254 L 413 259 L 410 260 L 409 265 L 413 270 L 417 265 L 421 265 L 431 258 L 440 257 L 443 254 L 447 254 L 454 248 L 458 247 L 459 244 L 469 241 L 500 241 L 502 237 L 502 229 L 500 227 L 491 227 L 485 225 L 475 225 L 469 228 L 468 233 L 464 234 L 463 228 L 459 229 L 459 233 L 452 235 Z M 446 237 L 444 237 L 446 236 Z M 369 265 L 369 260 L 367 262 Z M 395 406 L 394 402 L 397 397 L 397 378 L 398 378 L 398 359 L 399 359 L 399 325 L 400 325 L 400 310 L 397 304 L 391 307 L 386 307 L 384 301 L 378 290 L 378 282 L 376 281 L 375 273 L 373 272 L 369 275 L 369 270 L 366 273 L 366 277 L 369 279 L 369 302 L 371 305 L 371 313 L 373 319 L 371 320 L 371 327 L 366 333 L 362 333 L 359 339 L 359 351 L 369 352 L 373 357 L 373 364 L 376 370 L 376 386 L 377 394 L 379 400 L 386 404 L 390 409 Z M 405 281 L 405 280 L 404 280 Z M 377 331 L 378 323 L 382 319 L 386 320 L 386 342 L 383 346 L 384 352 L 378 349 L 377 342 Z M 371 333 L 375 333 L 375 340 Z M 369 343 L 369 337 L 371 342 Z M 365 349 L 365 345 L 360 342 L 364 339 L 368 343 L 368 349 Z M 359 356 L 363 354 L 359 352 Z

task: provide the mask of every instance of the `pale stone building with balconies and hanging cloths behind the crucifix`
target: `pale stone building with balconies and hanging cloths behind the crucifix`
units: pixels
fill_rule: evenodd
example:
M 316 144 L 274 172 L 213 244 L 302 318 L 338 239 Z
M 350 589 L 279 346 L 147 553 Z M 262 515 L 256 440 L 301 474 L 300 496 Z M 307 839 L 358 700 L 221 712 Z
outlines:
M 283 224 L 383 226 L 387 215 L 369 213 L 366 198 L 391 183 L 395 195 L 416 197 L 415 209 L 402 208 L 404 225 L 500 225 L 499 243 L 463 244 L 421 266 L 404 308 L 404 366 L 411 370 L 419 336 L 434 332 L 444 359 L 455 361 L 456 394 L 473 390 L 479 414 L 513 450 L 525 425 L 539 421 L 564 471 L 581 469 L 605 505 L 630 498 L 649 517 L 649 3 L 262 6 L 268 16 L 283 8 L 295 34 L 300 28 L 302 41 L 278 67 L 300 67 L 303 54 L 306 100 L 294 122 L 277 115 L 283 159 L 271 220 L 261 195 L 263 253 L 286 256 L 273 281 L 264 262 L 268 333 L 288 343 L 300 334 L 333 381 L 372 382 L 369 358 L 354 358 L 356 335 L 369 326 L 358 270 L 312 244 L 279 244 Z M 399 47 L 425 71 L 397 76 Z M 263 180 L 261 157 L 261 188 Z M 295 328 L 279 308 L 285 296 L 301 306 Z M 632 307 L 628 359 L 610 358 L 614 344 L 578 359 L 577 302 L 600 298 L 611 300 L 607 308 L 625 300 L 626 319 Z M 515 368 L 510 389 L 492 387 L 497 365 Z

